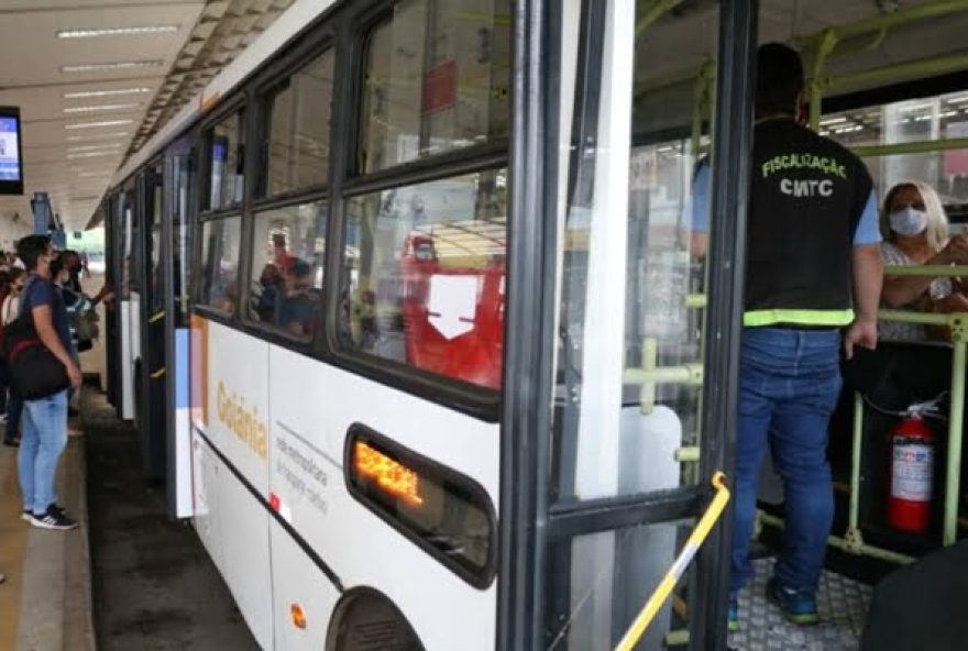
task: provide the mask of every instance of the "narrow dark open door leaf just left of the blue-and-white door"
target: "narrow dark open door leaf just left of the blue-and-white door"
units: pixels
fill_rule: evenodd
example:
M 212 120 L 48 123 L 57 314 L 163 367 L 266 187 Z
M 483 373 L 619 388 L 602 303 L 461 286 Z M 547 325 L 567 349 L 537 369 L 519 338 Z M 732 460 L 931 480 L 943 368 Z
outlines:
M 140 309 L 132 312 L 140 327 L 141 356 L 136 365 L 139 385 L 135 409 L 141 437 L 142 461 L 148 477 L 165 476 L 165 278 L 162 269 L 162 162 L 148 166 L 140 177 L 141 253 Z

